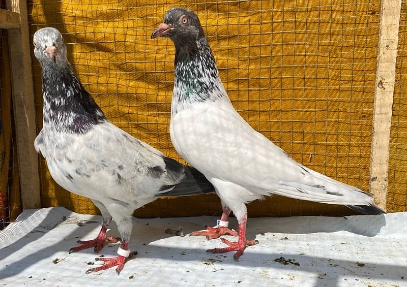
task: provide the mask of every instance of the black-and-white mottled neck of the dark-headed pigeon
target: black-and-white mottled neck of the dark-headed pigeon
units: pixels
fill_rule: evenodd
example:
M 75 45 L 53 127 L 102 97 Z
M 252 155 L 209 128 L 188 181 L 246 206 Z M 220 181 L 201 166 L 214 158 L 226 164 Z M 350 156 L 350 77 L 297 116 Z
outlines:
M 176 45 L 171 113 L 223 97 L 227 94 L 207 39 L 201 37 L 188 45 Z

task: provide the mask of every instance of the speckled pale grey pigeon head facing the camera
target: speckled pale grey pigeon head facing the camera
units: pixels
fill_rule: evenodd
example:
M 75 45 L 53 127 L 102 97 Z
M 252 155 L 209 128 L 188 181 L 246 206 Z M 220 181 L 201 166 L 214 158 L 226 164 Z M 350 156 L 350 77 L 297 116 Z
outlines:
M 41 66 L 66 64 L 67 48 L 60 31 L 51 27 L 36 31 L 34 34 L 34 54 Z

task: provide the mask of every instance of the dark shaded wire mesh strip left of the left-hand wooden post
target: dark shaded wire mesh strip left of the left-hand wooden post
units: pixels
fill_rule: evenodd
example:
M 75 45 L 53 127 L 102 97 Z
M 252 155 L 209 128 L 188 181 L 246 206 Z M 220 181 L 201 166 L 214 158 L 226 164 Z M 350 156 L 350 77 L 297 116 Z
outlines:
M 21 211 L 8 33 L 0 29 L 0 230 Z

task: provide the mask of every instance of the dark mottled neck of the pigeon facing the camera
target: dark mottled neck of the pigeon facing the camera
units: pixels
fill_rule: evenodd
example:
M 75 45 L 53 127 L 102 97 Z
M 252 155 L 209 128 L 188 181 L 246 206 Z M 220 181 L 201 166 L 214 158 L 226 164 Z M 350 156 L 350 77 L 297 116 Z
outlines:
M 43 65 L 43 125 L 58 132 L 84 134 L 106 121 L 102 110 L 76 78 L 69 63 Z

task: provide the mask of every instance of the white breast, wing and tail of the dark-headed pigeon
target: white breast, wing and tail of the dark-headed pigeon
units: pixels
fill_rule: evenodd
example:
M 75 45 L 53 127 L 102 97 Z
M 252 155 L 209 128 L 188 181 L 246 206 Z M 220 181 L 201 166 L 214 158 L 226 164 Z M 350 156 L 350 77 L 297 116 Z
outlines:
M 253 130 L 227 98 L 179 112 L 170 131 L 179 135 L 171 139 L 180 154 L 208 178 L 234 182 L 259 198 L 277 194 L 330 204 L 372 203 L 362 190 L 294 161 Z

